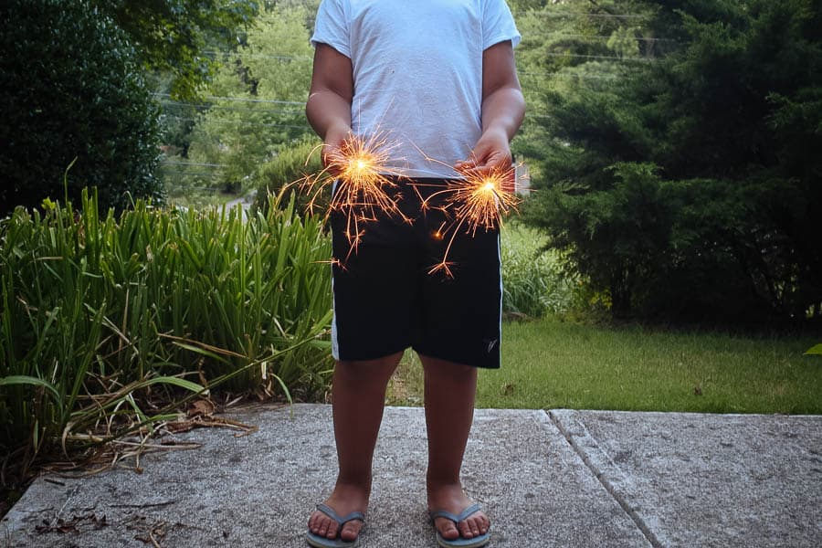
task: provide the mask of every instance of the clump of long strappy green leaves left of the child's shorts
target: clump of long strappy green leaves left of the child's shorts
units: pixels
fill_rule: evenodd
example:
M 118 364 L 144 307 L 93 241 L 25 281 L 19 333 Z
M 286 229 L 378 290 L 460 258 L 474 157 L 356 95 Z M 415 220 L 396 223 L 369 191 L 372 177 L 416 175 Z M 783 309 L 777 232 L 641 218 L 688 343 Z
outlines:
M 76 441 L 111 415 L 145 419 L 141 402 L 163 386 L 197 389 L 183 377 L 233 374 L 231 390 L 300 398 L 325 388 L 331 246 L 319 221 L 293 204 L 245 223 L 238 208 L 97 212 L 84 198 L 82 214 L 20 207 L 0 223 L 9 447 Z

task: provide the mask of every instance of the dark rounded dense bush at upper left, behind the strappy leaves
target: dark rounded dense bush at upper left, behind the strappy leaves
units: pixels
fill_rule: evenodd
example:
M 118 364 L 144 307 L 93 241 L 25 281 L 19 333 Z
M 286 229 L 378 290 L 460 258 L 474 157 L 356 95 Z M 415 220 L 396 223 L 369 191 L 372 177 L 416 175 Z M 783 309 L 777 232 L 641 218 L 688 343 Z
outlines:
M 46 197 L 100 204 L 158 197 L 158 111 L 136 53 L 87 0 L 10 0 L 0 7 L 0 215 Z

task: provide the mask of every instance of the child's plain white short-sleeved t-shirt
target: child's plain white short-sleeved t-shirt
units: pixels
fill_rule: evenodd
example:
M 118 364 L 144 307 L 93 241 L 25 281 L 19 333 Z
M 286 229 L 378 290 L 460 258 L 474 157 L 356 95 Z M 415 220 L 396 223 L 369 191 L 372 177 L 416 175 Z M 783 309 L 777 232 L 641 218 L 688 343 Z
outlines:
M 352 60 L 354 134 L 383 132 L 392 171 L 412 177 L 453 176 L 469 157 L 482 52 L 507 40 L 520 34 L 504 0 L 322 0 L 311 37 Z

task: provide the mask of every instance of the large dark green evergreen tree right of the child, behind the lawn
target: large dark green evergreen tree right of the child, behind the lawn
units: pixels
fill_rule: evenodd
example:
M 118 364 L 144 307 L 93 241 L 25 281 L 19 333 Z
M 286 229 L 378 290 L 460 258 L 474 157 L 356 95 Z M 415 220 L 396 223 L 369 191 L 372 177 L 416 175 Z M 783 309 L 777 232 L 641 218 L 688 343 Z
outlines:
M 529 220 L 617 315 L 819 314 L 820 2 L 614 4 L 642 16 L 543 88 Z

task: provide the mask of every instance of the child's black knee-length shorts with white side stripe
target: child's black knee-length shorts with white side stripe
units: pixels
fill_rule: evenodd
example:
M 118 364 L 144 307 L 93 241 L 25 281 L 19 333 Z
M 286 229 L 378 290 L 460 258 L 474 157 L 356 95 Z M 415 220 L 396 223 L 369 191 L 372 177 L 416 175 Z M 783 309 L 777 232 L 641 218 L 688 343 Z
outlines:
M 436 200 L 442 179 L 397 183 L 405 219 L 378 215 L 360 224 L 352 249 L 346 216 L 331 216 L 333 237 L 332 351 L 342 361 L 373 360 L 408 347 L 425 356 L 475 367 L 500 367 L 501 272 L 498 229 L 456 233 L 450 275 L 440 269 L 452 219 Z

